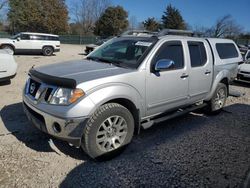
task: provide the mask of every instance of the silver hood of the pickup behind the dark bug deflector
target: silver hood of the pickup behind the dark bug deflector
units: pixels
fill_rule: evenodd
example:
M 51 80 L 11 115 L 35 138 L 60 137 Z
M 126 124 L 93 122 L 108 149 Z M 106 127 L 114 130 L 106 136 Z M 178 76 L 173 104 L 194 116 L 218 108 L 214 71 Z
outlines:
M 46 75 L 74 79 L 77 84 L 135 71 L 89 60 L 78 60 L 41 66 L 36 67 L 35 70 Z

